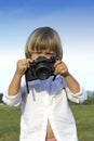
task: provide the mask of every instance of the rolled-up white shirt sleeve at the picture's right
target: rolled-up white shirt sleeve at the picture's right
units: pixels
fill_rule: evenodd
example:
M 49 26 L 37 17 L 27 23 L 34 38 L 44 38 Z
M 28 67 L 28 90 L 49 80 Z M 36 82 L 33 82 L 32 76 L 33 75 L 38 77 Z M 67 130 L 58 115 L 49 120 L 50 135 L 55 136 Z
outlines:
M 68 87 L 66 87 L 65 91 L 66 91 L 68 99 L 71 102 L 83 103 L 88 99 L 88 92 L 85 91 L 85 89 L 82 86 L 80 86 L 80 92 L 75 93 L 75 94 L 69 90 Z

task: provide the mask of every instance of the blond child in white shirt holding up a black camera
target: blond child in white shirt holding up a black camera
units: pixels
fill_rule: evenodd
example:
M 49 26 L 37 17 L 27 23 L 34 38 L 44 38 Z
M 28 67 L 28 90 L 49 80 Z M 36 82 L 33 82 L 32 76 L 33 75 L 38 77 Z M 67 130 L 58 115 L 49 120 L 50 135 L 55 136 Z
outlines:
M 85 90 L 68 72 L 62 61 L 63 48 L 56 30 L 51 27 L 35 29 L 26 42 L 26 59 L 18 60 L 13 79 L 3 101 L 10 106 L 22 104 L 19 141 L 78 141 L 76 123 L 68 100 L 82 103 Z M 55 56 L 53 76 L 28 81 L 24 78 L 30 63 L 42 56 Z

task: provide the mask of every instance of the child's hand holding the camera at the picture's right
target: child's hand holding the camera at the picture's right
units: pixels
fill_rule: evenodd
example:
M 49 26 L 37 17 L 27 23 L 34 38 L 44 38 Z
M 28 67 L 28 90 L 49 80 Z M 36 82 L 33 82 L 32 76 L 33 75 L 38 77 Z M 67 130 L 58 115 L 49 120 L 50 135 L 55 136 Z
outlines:
M 68 67 L 66 66 L 66 64 L 63 61 L 56 61 L 56 63 L 54 64 L 55 70 L 54 74 L 55 75 L 62 75 L 62 76 L 67 76 L 68 75 Z

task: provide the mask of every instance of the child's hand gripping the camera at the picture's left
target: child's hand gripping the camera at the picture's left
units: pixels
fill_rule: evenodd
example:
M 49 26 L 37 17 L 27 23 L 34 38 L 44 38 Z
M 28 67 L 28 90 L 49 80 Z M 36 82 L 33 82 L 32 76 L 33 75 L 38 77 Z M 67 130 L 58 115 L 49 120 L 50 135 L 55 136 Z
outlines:
M 30 65 L 29 65 L 30 62 L 31 62 L 30 59 L 18 60 L 16 73 L 18 73 L 21 76 L 23 76 L 24 73 L 26 72 L 26 69 L 30 67 Z

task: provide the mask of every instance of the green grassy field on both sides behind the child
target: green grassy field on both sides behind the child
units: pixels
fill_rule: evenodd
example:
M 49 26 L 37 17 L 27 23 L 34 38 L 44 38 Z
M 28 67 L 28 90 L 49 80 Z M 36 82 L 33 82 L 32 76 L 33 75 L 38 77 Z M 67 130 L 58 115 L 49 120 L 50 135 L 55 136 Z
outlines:
M 70 103 L 76 118 L 79 141 L 94 141 L 94 100 Z M 0 141 L 18 141 L 21 107 L 0 105 Z M 73 132 L 72 132 L 73 133 Z

